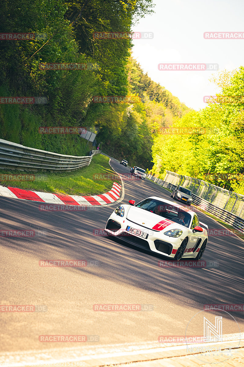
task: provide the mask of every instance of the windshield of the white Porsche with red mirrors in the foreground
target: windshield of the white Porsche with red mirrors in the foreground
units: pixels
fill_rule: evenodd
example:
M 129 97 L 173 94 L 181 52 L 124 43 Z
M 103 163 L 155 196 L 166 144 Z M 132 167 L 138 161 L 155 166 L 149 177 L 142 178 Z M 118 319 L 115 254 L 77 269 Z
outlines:
M 185 225 L 185 227 L 188 228 L 192 219 L 191 215 L 183 210 L 182 207 L 178 208 L 174 205 L 164 203 L 164 201 L 159 201 L 157 199 L 145 199 L 135 206 L 159 215 L 160 217 L 170 219 L 171 221 L 178 224 Z M 184 223 L 182 223 L 180 219 L 182 219 Z

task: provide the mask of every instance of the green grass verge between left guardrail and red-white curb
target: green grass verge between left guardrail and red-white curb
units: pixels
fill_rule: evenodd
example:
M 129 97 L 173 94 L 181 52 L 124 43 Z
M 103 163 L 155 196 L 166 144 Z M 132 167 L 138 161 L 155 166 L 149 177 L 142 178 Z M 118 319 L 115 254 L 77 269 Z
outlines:
M 34 181 L 5 181 L 1 178 L 1 174 L 30 174 L 34 175 Z M 119 177 L 115 175 L 109 166 L 109 158 L 98 154 L 92 158 L 89 166 L 70 172 L 23 172 L 0 169 L 0 185 L 57 194 L 99 195 L 108 192 L 113 182 L 121 183 Z

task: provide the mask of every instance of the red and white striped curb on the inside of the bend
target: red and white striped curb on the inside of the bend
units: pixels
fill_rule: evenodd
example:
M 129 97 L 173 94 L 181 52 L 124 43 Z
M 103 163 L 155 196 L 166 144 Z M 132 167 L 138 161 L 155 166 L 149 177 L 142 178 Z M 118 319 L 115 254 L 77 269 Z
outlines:
M 29 191 L 13 187 L 0 186 L 0 196 L 10 197 L 12 199 L 24 199 L 39 201 L 41 203 L 50 204 L 66 204 L 66 205 L 106 205 L 114 203 L 120 198 L 121 185 L 114 182 L 109 192 L 101 195 L 78 196 L 78 195 L 61 195 L 51 194 L 48 192 Z

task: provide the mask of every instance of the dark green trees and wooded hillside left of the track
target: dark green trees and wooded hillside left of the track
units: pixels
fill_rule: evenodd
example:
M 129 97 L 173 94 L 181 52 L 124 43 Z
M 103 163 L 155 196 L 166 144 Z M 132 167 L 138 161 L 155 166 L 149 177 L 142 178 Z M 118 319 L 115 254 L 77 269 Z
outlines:
M 106 153 L 152 168 L 153 128 L 182 113 L 179 100 L 143 75 L 130 58 L 132 40 L 94 39 L 94 32 L 131 32 L 152 0 L 6 0 L 0 32 L 46 34 L 0 43 L 0 95 L 43 96 L 44 105 L 0 105 L 1 138 L 53 152 L 83 155 L 79 135 L 43 135 L 40 126 L 88 126 Z M 45 70 L 40 63 L 84 63 L 86 70 Z M 148 95 L 145 103 L 93 103 L 95 95 Z M 159 124 L 158 124 L 159 122 Z M 90 144 L 91 146 L 91 144 Z M 90 148 L 89 146 L 89 148 Z

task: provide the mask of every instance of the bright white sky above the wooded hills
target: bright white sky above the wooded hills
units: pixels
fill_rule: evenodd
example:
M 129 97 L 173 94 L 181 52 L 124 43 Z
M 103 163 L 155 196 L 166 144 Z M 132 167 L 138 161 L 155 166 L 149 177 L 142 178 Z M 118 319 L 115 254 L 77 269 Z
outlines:
M 244 34 L 242 0 L 154 0 L 155 13 L 133 28 L 153 32 L 150 40 L 133 40 L 132 56 L 148 76 L 188 107 L 207 106 L 205 95 L 218 89 L 210 71 L 158 70 L 159 63 L 217 63 L 219 71 L 244 65 L 244 39 L 204 39 L 204 32 Z M 214 73 L 218 73 L 215 71 Z

